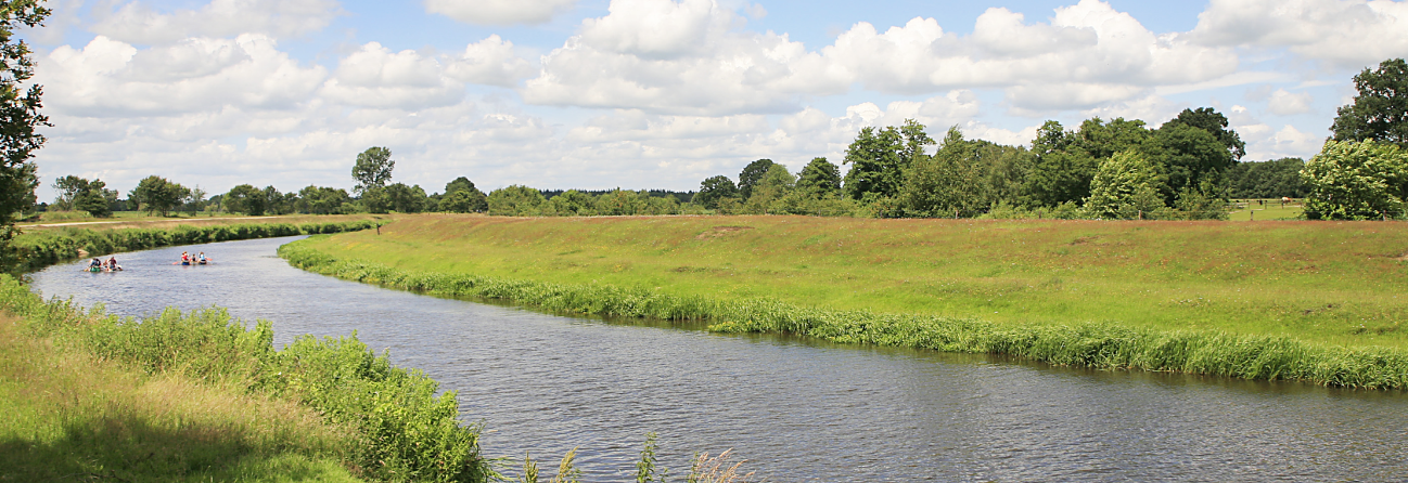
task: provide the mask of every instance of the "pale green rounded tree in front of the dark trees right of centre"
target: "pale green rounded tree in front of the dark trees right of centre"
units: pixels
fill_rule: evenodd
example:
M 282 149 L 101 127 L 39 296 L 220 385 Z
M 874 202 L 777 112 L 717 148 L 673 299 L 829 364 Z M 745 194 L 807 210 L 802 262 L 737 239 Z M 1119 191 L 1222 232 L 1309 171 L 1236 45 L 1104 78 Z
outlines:
M 1125 150 L 1100 161 L 1086 199 L 1088 216 L 1132 219 L 1162 208 L 1167 206 L 1159 194 L 1159 176 L 1143 154 Z

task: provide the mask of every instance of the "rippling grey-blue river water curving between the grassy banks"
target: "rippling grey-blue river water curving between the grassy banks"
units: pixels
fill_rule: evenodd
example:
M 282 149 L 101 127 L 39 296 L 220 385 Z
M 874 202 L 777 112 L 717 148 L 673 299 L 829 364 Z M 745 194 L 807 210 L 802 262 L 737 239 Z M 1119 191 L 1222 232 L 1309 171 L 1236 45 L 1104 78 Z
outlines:
M 560 317 L 308 274 L 275 256 L 290 240 L 120 254 L 118 274 L 56 265 L 32 286 L 118 315 L 218 305 L 273 322 L 279 347 L 355 330 L 458 390 L 486 455 L 555 469 L 580 446 L 587 482 L 634 482 L 648 431 L 676 480 L 729 448 L 770 482 L 1408 479 L 1404 392 Z M 182 251 L 215 264 L 172 265 Z

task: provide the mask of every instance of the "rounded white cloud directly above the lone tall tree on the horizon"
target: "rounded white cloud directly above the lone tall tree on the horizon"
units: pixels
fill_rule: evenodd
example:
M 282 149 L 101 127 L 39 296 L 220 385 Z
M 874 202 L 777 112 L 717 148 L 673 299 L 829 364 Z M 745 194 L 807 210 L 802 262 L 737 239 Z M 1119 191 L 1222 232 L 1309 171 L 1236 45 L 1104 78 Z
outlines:
M 346 105 L 417 110 L 456 104 L 465 86 L 449 79 L 432 58 L 370 42 L 338 63 L 322 95 Z

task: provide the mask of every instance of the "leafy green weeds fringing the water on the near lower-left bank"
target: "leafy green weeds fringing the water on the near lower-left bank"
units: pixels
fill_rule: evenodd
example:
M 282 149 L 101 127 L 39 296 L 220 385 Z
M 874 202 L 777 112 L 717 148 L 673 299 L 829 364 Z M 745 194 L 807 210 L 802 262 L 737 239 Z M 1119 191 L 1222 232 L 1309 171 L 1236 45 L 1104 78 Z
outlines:
M 248 329 L 222 309 L 120 319 L 100 307 L 84 312 L 63 300 L 44 302 L 8 275 L 0 275 L 0 310 L 27 319 L 30 336 L 153 378 L 182 376 L 311 407 L 324 423 L 349 430 L 338 449 L 363 477 L 484 482 L 493 476 L 480 456 L 480 427 L 459 424 L 455 392 L 436 396 L 435 381 L 391 366 L 355 334 L 306 336 L 275 351 L 268 322 Z

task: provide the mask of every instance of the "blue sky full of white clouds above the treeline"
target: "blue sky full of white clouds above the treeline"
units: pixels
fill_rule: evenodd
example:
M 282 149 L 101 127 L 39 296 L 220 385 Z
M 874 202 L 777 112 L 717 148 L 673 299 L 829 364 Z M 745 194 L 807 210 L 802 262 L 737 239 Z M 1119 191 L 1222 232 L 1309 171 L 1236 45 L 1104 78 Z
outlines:
M 1357 0 L 49 0 L 21 38 L 55 178 L 351 188 L 465 176 L 697 190 L 841 164 L 863 126 L 1029 145 L 1048 119 L 1212 107 L 1245 161 L 1309 159 L 1352 77 L 1408 56 L 1408 3 Z M 843 166 L 842 170 L 846 167 Z

